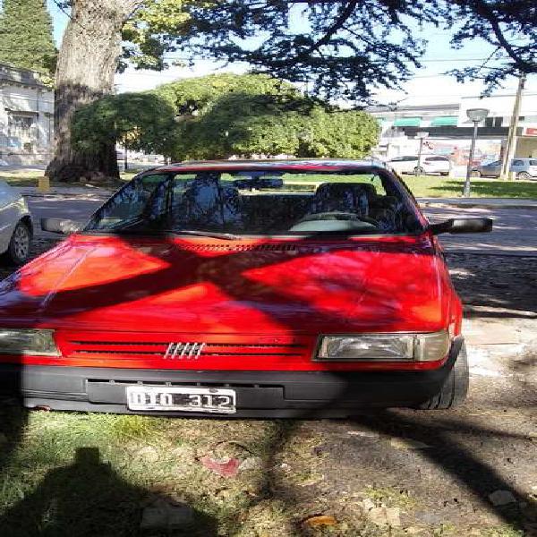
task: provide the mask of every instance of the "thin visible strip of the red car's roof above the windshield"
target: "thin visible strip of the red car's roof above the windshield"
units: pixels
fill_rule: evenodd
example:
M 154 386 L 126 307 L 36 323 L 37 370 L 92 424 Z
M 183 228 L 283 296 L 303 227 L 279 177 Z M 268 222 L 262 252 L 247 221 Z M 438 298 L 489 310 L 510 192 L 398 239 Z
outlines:
M 337 171 L 342 169 L 372 170 L 373 168 L 388 170 L 384 162 L 376 158 L 362 160 L 331 159 L 331 158 L 289 158 L 267 160 L 191 160 L 151 168 L 154 172 L 188 172 L 204 170 L 271 170 L 275 168 L 286 170 Z

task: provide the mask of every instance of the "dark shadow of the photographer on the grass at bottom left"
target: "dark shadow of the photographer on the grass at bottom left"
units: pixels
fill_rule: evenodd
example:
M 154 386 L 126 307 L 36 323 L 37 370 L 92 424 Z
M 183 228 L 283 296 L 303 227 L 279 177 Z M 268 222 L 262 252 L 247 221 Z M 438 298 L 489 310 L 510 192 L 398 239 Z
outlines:
M 124 482 L 110 465 L 100 460 L 96 447 L 81 447 L 72 465 L 50 470 L 38 487 L 11 507 L 0 519 L 0 534 L 10 537 L 81 537 L 86 535 L 138 535 L 141 505 L 148 491 Z M 158 506 L 173 502 L 153 497 Z M 190 535 L 217 535 L 209 516 L 193 512 L 192 518 L 173 521 L 161 517 L 162 526 L 149 529 L 151 535 L 173 535 L 187 530 Z

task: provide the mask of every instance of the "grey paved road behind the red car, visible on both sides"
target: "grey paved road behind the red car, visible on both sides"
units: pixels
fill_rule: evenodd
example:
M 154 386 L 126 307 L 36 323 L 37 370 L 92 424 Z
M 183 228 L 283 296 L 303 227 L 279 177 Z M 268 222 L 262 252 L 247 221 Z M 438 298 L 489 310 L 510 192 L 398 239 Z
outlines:
M 30 211 L 37 223 L 41 217 L 85 221 L 103 201 L 104 198 L 97 195 L 88 196 L 88 198 L 74 196 L 28 198 Z M 431 221 L 463 216 L 494 219 L 494 231 L 491 234 L 442 235 L 441 241 L 447 251 L 537 256 L 537 210 L 535 209 L 427 207 L 424 213 Z M 43 236 L 46 235 L 43 234 Z

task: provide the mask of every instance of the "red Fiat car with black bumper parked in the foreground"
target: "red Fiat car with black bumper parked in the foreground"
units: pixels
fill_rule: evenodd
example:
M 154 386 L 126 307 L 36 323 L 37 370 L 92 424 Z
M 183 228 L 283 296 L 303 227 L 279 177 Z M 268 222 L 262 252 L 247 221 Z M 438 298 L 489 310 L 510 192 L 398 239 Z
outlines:
M 345 416 L 464 400 L 461 303 L 437 234 L 374 161 L 137 175 L 0 285 L 0 379 L 27 406 Z

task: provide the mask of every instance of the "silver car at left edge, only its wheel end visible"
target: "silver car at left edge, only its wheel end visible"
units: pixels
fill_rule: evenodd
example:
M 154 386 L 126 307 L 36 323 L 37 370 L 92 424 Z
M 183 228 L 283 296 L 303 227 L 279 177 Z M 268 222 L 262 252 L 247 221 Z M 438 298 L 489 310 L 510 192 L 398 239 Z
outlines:
M 21 265 L 30 255 L 33 234 L 30 211 L 21 194 L 0 180 L 0 254 Z

